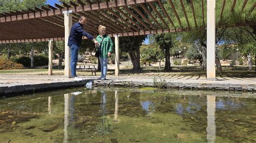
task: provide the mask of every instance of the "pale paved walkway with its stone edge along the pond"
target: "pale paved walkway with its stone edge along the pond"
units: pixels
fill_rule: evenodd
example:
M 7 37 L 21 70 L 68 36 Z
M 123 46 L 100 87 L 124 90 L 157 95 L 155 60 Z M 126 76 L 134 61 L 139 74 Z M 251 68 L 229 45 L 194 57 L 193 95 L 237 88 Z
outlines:
M 37 90 L 83 86 L 88 81 L 96 85 L 117 85 L 134 87 L 152 87 L 153 77 L 158 81 L 166 80 L 167 88 L 187 89 L 219 89 L 219 90 L 246 90 L 256 91 L 256 78 L 217 77 L 217 81 L 207 81 L 205 76 L 189 76 L 183 74 L 158 75 L 144 73 L 125 76 L 109 75 L 108 80 L 96 80 L 98 76 L 82 76 L 83 81 L 74 81 L 64 76 L 2 74 L 0 75 L 0 95 L 16 94 L 18 92 L 31 92 Z

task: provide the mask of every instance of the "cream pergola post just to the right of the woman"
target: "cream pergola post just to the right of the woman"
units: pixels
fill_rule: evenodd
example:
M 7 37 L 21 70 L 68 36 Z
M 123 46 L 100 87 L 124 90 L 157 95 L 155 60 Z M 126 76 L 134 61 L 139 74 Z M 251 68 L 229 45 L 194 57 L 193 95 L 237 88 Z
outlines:
M 114 58 L 115 68 L 114 68 L 114 75 L 119 76 L 119 35 L 114 36 L 114 46 L 116 56 Z

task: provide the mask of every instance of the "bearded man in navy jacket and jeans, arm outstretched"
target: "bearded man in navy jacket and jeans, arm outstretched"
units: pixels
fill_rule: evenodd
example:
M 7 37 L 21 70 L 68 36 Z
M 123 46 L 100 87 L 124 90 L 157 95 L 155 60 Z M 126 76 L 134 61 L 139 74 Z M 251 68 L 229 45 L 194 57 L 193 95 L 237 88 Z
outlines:
M 83 26 L 86 24 L 86 17 L 81 16 L 79 18 L 79 21 L 72 25 L 70 35 L 69 35 L 69 41 L 68 46 L 70 48 L 70 54 L 71 54 L 71 61 L 70 61 L 70 68 L 71 68 L 71 78 L 74 80 L 80 81 L 82 78 L 77 77 L 76 75 L 76 67 L 77 67 L 77 60 L 78 60 L 78 51 L 80 48 L 80 44 L 82 43 L 82 37 L 83 35 L 86 36 L 88 39 L 95 42 L 95 46 L 97 46 L 99 43 L 96 41 L 91 34 L 87 33 Z

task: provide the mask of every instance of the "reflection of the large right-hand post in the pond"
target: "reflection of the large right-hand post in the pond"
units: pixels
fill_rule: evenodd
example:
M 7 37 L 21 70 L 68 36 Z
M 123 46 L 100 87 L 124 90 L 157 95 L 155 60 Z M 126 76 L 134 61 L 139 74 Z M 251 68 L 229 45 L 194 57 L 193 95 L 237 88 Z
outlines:
M 207 96 L 207 141 L 215 142 L 216 140 L 216 124 L 215 124 L 215 96 Z

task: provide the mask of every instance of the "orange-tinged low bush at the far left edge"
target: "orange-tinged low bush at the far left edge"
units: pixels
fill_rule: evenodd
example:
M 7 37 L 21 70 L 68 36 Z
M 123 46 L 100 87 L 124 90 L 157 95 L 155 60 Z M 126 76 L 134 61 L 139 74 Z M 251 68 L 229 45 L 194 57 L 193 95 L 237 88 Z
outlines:
M 0 69 L 24 69 L 24 66 L 10 60 L 0 59 Z

